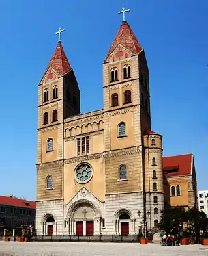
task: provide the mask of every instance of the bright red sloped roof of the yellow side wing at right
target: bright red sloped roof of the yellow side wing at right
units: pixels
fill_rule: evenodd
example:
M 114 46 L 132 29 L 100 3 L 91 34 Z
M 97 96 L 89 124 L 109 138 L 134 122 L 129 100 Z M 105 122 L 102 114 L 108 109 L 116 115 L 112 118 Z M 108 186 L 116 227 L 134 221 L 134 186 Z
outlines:
M 191 174 L 192 154 L 163 157 L 162 162 L 166 177 Z M 166 173 L 168 170 L 177 170 L 177 172 Z

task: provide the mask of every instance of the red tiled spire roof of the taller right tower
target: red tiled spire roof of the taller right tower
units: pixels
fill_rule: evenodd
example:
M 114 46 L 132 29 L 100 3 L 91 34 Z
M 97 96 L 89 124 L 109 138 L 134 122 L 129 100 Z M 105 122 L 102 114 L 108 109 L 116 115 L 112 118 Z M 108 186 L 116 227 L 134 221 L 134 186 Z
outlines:
M 143 49 L 140 46 L 138 40 L 136 39 L 134 32 L 130 28 L 130 25 L 128 25 L 128 23 L 126 21 L 123 21 L 123 23 L 113 41 L 113 44 L 111 44 L 111 47 L 108 51 L 106 59 L 114 51 L 114 49 L 118 46 L 118 44 L 122 44 L 123 47 L 130 49 L 130 51 L 132 51 L 132 53 L 135 53 L 135 54 L 140 53 L 140 51 L 142 51 L 142 49 Z

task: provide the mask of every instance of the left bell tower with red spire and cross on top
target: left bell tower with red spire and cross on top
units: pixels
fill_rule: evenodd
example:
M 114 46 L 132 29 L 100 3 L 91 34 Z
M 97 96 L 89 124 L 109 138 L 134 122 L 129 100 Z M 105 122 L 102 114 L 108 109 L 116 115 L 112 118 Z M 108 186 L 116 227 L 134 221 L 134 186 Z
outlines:
M 38 85 L 37 219 L 46 209 L 56 212 L 55 233 L 63 233 L 64 120 L 80 114 L 80 90 L 63 50 L 63 31 L 57 32 L 57 47 Z M 41 225 L 37 224 L 37 230 L 42 232 Z

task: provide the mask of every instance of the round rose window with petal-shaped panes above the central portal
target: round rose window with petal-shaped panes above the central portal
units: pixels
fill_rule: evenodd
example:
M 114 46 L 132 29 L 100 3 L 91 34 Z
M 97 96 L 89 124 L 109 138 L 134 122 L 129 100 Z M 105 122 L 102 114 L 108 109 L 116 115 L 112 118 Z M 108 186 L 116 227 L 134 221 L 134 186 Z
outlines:
M 93 170 L 89 164 L 80 164 L 76 168 L 75 177 L 78 183 L 87 183 L 93 175 Z

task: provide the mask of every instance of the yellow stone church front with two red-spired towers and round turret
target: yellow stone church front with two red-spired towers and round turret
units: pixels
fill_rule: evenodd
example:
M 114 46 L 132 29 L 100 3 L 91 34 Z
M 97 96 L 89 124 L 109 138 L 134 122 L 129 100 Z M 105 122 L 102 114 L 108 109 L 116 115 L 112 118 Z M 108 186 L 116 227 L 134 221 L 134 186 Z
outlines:
M 38 86 L 38 235 L 132 235 L 164 207 L 162 136 L 151 131 L 145 52 L 127 22 L 103 63 L 104 107 L 80 114 L 61 42 Z

